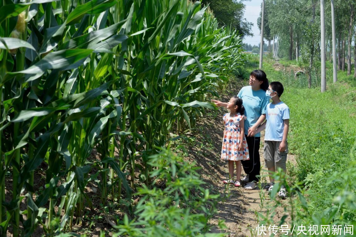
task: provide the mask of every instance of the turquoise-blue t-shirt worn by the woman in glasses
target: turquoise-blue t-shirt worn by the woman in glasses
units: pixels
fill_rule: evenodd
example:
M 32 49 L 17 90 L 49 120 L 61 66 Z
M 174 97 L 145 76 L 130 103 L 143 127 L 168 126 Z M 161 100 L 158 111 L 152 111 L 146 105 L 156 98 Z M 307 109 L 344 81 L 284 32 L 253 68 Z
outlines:
M 245 134 L 248 128 L 252 127 L 262 114 L 266 114 L 266 107 L 269 99 L 266 96 L 266 91 L 252 90 L 251 86 L 244 86 L 241 88 L 239 98 L 242 99 L 242 105 L 245 107 Z M 255 137 L 261 137 L 261 133 L 256 133 Z

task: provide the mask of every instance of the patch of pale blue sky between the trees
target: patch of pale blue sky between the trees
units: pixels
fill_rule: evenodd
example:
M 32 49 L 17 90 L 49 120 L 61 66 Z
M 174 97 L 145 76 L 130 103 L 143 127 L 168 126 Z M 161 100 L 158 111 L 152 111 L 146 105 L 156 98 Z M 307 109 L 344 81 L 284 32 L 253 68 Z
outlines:
M 252 33 L 254 35 L 252 37 L 245 37 L 244 43 L 258 45 L 261 42 L 260 30 L 258 30 L 257 27 L 257 18 L 260 16 L 261 3 L 262 0 L 244 1 L 244 4 L 246 5 L 244 17 L 248 22 L 253 23 Z

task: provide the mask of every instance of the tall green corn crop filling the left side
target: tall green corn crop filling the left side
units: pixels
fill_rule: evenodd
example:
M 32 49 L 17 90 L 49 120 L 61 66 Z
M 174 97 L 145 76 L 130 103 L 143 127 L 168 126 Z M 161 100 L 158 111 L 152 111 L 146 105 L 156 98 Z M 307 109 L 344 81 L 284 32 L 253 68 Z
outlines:
M 186 0 L 3 0 L 0 36 L 1 236 L 71 230 L 89 184 L 130 202 L 243 62 L 238 32 Z

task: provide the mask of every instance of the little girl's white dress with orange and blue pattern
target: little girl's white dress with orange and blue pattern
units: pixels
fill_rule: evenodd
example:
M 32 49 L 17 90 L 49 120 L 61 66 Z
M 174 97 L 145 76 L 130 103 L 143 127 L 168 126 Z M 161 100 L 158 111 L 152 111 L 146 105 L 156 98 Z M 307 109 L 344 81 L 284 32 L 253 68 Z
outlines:
M 246 138 L 242 141 L 242 151 L 237 151 L 240 144 L 240 121 L 246 119 L 245 115 L 238 113 L 230 117 L 230 113 L 223 116 L 225 122 L 225 131 L 223 139 L 223 147 L 221 148 L 221 159 L 224 160 L 249 160 L 248 147 Z

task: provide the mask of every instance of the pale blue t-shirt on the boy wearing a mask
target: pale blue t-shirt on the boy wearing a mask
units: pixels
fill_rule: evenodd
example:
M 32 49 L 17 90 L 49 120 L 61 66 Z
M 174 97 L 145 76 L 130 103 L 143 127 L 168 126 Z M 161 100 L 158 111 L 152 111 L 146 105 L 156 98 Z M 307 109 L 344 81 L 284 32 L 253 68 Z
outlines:
M 289 119 L 289 108 L 283 101 L 267 105 L 265 141 L 282 141 L 284 119 Z

